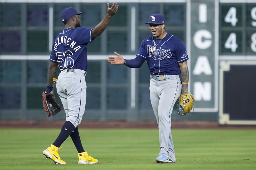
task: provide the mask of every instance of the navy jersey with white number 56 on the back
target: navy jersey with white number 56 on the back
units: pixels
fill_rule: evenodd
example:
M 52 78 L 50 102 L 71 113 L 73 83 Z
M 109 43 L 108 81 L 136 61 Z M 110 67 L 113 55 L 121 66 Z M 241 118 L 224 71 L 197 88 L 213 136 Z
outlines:
M 87 44 L 93 42 L 93 28 L 67 28 L 59 33 L 52 44 L 50 61 L 58 63 L 60 70 L 87 69 Z

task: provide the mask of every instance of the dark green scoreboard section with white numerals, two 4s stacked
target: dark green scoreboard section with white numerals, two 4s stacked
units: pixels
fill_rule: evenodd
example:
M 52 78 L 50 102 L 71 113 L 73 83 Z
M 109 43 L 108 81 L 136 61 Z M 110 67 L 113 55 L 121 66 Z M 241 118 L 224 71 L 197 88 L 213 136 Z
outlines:
M 255 55 L 256 2 L 220 3 L 220 55 Z

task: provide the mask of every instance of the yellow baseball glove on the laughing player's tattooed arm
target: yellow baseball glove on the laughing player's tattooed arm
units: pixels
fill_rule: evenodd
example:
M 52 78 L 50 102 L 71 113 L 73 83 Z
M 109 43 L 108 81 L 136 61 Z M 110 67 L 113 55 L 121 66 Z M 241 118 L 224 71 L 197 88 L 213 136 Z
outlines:
M 186 103 L 186 100 L 189 100 L 189 102 Z M 193 108 L 193 103 L 194 98 L 191 93 L 185 95 L 180 94 L 177 113 L 179 113 L 180 115 L 186 115 Z

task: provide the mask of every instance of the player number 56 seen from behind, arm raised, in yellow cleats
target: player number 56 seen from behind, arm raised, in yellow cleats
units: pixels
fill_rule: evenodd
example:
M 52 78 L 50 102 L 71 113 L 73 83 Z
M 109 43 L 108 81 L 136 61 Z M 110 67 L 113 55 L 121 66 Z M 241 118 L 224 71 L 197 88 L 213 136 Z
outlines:
M 71 137 L 78 151 L 79 164 L 98 162 L 97 159 L 84 151 L 77 127 L 81 123 L 86 103 L 86 46 L 106 29 L 110 18 L 116 14 L 117 10 L 117 3 L 113 3 L 111 7 L 107 3 L 106 16 L 94 28 L 81 27 L 79 15 L 83 12 L 77 12 L 71 7 L 61 12 L 61 20 L 65 28 L 59 33 L 52 45 L 45 91 L 45 93 L 52 93 L 53 77 L 57 67 L 59 67 L 60 74 L 56 88 L 66 112 L 66 122 L 63 124 L 57 139 L 43 151 L 43 155 L 52 159 L 55 164 L 66 164 L 60 159 L 58 150 L 68 136 Z

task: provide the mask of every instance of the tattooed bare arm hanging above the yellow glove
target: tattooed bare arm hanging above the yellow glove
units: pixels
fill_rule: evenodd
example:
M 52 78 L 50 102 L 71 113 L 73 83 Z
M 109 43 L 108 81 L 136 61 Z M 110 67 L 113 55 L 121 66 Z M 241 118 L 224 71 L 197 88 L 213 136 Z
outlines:
M 187 61 L 179 63 L 180 66 L 180 80 L 183 83 L 188 83 L 188 64 Z M 181 94 L 188 94 L 188 84 L 182 84 Z

